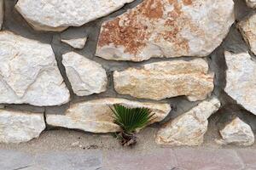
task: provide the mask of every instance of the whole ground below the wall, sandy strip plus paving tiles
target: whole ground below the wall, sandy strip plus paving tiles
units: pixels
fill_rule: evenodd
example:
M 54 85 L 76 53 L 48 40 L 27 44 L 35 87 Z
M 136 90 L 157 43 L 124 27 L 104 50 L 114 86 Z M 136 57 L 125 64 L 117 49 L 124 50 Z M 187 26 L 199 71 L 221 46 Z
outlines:
M 222 147 L 206 138 L 200 147 L 164 147 L 154 143 L 156 131 L 143 130 L 133 148 L 111 135 L 47 131 L 28 143 L 0 144 L 0 170 L 256 170 L 255 144 Z

